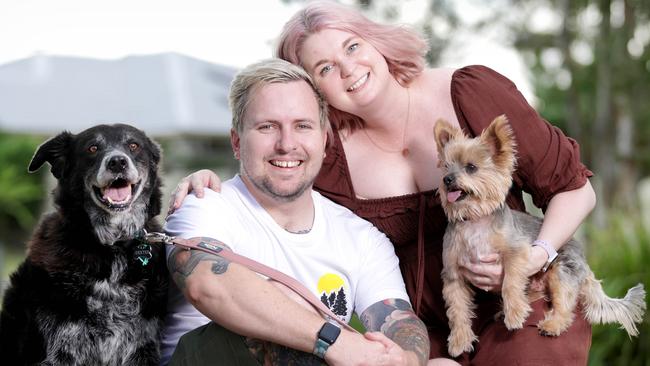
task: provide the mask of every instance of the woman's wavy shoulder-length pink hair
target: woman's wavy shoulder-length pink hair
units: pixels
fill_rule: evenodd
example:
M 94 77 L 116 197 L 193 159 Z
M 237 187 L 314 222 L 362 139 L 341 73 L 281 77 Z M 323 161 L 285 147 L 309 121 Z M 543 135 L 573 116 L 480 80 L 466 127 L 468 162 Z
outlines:
M 428 46 L 418 33 L 405 26 L 375 23 L 350 7 L 333 1 L 307 4 L 284 25 L 276 56 L 302 65 L 300 50 L 310 35 L 323 29 L 338 29 L 358 35 L 381 53 L 388 70 L 400 84 L 408 85 L 424 69 L 424 54 Z M 330 105 L 330 121 L 341 129 L 362 128 L 361 118 Z

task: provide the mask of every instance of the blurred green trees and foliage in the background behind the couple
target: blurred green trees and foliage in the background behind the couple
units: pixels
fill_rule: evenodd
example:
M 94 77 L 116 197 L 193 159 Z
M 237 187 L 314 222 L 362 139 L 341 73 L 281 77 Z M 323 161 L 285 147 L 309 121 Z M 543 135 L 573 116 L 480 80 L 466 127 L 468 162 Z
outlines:
M 405 2 L 408 0 L 354 3 L 375 19 L 394 21 Z M 592 269 L 611 296 L 623 296 L 639 282 L 647 288 L 650 1 L 465 2 L 481 6 L 481 16 L 467 20 L 458 2 L 427 1 L 421 21 L 413 25 L 429 40 L 428 62 L 446 66 L 441 64 L 443 56 L 457 45 L 453 41 L 459 32 L 490 34 L 499 44 L 518 50 L 529 70 L 537 110 L 580 142 L 582 160 L 595 173 L 592 184 L 598 205 L 579 232 L 588 243 Z M 43 140 L 43 136 L 0 134 L 0 250 L 22 251 L 43 207 L 46 169 L 40 174 L 26 173 Z M 211 168 L 223 176 L 236 169 L 227 138 L 195 139 L 192 151 L 174 139 L 161 142 L 163 170 L 175 172 L 168 174 L 168 185 L 175 185 L 182 175 L 197 168 Z M 10 260 L 5 272 L 19 259 Z M 647 315 L 640 328 L 640 336 L 629 339 L 615 326 L 594 326 L 589 364 L 649 366 Z

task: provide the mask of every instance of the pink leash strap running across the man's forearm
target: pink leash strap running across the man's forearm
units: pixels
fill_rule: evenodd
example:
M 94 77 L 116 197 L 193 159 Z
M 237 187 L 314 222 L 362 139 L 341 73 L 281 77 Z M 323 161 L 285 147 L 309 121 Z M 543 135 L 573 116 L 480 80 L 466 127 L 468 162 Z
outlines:
M 302 283 L 298 282 L 295 278 L 248 257 L 239 255 L 229 248 L 220 245 L 220 243 L 215 239 L 207 237 L 183 239 L 179 237 L 168 236 L 162 233 L 146 232 L 144 236 L 145 240 L 150 243 L 162 242 L 168 245 L 176 245 L 185 249 L 195 249 L 210 254 L 216 254 L 231 262 L 238 263 L 254 272 L 278 281 L 283 285 L 289 287 L 291 290 L 309 302 L 309 304 L 311 304 L 311 306 L 313 306 L 314 309 L 316 309 L 326 319 L 336 321 L 345 329 L 358 333 L 356 329 L 352 328 L 348 323 L 344 322 L 338 316 L 336 316 L 325 304 L 318 300 L 312 292 L 307 290 L 307 288 L 305 288 L 305 286 Z

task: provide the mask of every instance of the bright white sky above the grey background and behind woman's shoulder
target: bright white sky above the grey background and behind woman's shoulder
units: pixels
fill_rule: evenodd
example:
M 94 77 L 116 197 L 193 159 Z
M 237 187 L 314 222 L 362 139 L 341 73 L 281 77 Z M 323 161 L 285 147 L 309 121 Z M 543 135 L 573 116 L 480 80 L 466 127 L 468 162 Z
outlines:
M 477 2 L 456 3 L 471 17 Z M 301 6 L 280 0 L 0 0 L 0 65 L 37 54 L 119 59 L 177 52 L 241 68 L 272 55 L 284 22 Z M 404 1 L 399 21 L 417 22 L 425 6 Z M 444 66 L 491 66 L 534 99 L 514 50 L 480 35 L 458 41 L 442 58 Z

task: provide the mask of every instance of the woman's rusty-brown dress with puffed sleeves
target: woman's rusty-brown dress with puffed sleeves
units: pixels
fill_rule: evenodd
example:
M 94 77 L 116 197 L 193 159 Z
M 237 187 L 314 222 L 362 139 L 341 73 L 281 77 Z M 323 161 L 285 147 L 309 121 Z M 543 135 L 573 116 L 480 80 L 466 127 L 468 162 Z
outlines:
M 475 136 L 501 114 L 505 114 L 518 141 L 518 166 L 508 197 L 511 208 L 524 210 L 522 191 L 545 209 L 557 193 L 582 187 L 592 173 L 580 162 L 578 144 L 544 121 L 526 102 L 515 85 L 483 66 L 456 70 L 451 98 L 460 126 Z M 433 133 L 431 143 L 434 144 Z M 434 161 L 431 164 L 435 164 Z M 327 149 L 327 157 L 315 188 L 333 201 L 372 222 L 393 242 L 400 259 L 406 289 L 414 309 L 426 324 L 431 339 L 431 357 L 448 357 L 449 333 L 442 299 L 442 237 L 447 225 L 436 191 L 398 197 L 359 199 L 338 133 Z M 577 314 L 571 328 L 560 337 L 543 337 L 536 324 L 547 303 L 533 304 L 534 313 L 523 329 L 508 331 L 495 321 L 498 297 L 479 291 L 480 306 L 474 330 L 479 343 L 471 354 L 457 361 L 465 365 L 585 365 L 591 344 L 591 327 Z

